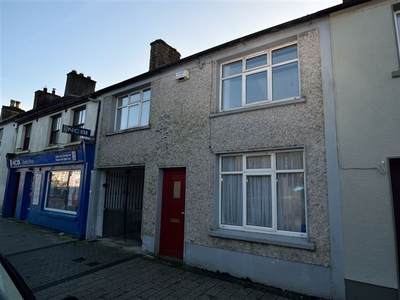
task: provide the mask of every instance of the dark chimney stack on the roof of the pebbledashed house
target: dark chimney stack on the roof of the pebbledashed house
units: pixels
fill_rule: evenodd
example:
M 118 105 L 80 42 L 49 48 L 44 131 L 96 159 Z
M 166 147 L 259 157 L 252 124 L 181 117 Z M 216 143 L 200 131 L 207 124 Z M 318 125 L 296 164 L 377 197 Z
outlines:
M 155 40 L 150 46 L 150 71 L 178 61 L 181 58 L 181 54 L 175 48 L 172 48 L 161 39 Z

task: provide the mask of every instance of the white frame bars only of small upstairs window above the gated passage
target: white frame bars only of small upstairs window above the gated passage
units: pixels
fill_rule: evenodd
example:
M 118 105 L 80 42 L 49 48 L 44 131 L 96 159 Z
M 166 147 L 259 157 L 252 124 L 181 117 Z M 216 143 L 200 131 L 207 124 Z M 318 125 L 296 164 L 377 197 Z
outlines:
M 143 94 L 146 91 L 150 91 L 150 98 L 143 100 Z M 130 103 L 129 102 L 129 98 L 132 95 L 135 95 L 135 94 L 138 94 L 138 93 L 140 93 L 140 100 L 137 101 L 137 102 Z M 125 97 L 128 98 L 128 104 L 127 105 L 119 105 L 119 100 L 123 99 Z M 143 104 L 144 103 L 149 103 L 149 113 L 148 113 L 148 116 L 147 116 L 147 123 L 142 124 Z M 129 94 L 124 94 L 122 96 L 118 96 L 117 99 L 116 99 L 116 105 L 115 105 L 116 106 L 116 110 L 115 110 L 114 129 L 116 131 L 123 131 L 123 130 L 131 129 L 131 128 L 140 128 L 140 127 L 148 126 L 149 125 L 149 120 L 150 120 L 150 105 L 151 105 L 151 88 L 150 87 L 146 87 L 146 88 L 143 88 L 143 89 L 140 89 L 140 90 L 135 90 L 135 91 L 133 91 L 133 92 L 131 92 Z M 133 125 L 133 126 L 128 126 L 128 124 L 129 124 L 129 108 L 130 107 L 134 107 L 134 106 L 138 106 L 139 107 L 138 108 L 138 111 L 139 111 L 139 113 L 138 113 L 138 124 L 137 125 Z M 127 108 L 128 109 L 128 115 L 127 115 L 127 118 L 126 118 L 126 126 L 125 127 L 123 127 L 122 124 L 119 124 L 119 121 L 118 121 L 118 113 L 123 108 Z

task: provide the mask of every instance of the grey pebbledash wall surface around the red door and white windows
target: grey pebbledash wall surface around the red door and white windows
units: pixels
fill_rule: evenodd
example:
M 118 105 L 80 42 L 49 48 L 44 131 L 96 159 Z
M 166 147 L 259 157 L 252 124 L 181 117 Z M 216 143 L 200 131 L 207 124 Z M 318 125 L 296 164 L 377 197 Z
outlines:
M 271 277 L 268 268 L 256 271 L 254 264 L 265 258 L 266 265 L 285 266 L 280 274 L 275 274 L 276 286 L 305 292 L 294 281 L 306 272 L 305 288 L 313 289 L 312 282 L 318 279 L 323 287 L 315 288 L 312 293 L 330 296 L 331 250 L 319 36 L 319 26 L 325 21 L 261 36 L 184 66 L 164 69 L 151 80 L 119 87 L 102 97 L 97 167 L 101 170 L 145 166 L 142 238 L 146 251 L 158 252 L 162 169 L 185 167 L 186 263 L 208 268 L 212 265 L 213 269 L 224 272 L 226 264 L 218 260 L 210 263 L 212 253 L 242 257 L 252 265 L 238 267 L 235 275 L 263 282 Z M 218 112 L 219 63 L 288 41 L 298 43 L 301 98 L 253 110 Z M 175 73 L 183 69 L 190 71 L 190 79 L 177 82 Z M 116 96 L 146 84 L 151 84 L 152 90 L 149 127 L 112 132 Z M 305 153 L 308 242 L 313 249 L 212 236 L 217 218 L 218 155 L 293 147 L 304 149 Z M 293 264 L 291 271 L 290 264 Z M 294 273 L 288 276 L 290 272 Z

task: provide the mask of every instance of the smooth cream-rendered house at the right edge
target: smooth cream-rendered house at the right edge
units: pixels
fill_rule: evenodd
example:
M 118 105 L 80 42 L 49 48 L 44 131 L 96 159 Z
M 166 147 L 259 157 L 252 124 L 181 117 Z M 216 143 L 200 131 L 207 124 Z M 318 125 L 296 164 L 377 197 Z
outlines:
M 398 0 L 331 14 L 346 299 L 399 299 L 399 34 Z

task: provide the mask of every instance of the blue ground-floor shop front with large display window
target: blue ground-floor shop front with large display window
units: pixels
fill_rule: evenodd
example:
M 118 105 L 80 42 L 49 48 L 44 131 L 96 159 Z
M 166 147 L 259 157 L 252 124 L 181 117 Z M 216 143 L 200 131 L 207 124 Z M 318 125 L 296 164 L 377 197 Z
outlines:
M 84 239 L 94 145 L 8 154 L 3 217 L 27 220 Z

